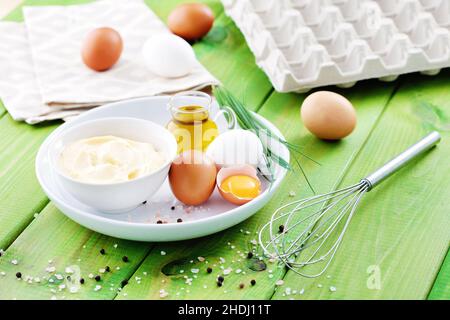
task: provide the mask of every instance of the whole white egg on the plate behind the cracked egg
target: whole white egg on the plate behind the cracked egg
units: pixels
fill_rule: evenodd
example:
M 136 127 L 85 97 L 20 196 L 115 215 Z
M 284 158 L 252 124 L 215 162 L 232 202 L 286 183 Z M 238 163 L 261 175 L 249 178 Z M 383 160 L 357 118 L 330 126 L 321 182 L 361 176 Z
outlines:
M 219 135 L 206 150 L 220 167 L 251 165 L 257 167 L 263 160 L 263 145 L 251 131 L 236 129 Z

